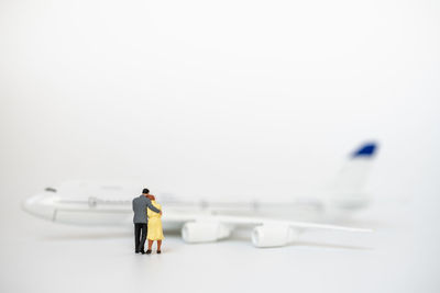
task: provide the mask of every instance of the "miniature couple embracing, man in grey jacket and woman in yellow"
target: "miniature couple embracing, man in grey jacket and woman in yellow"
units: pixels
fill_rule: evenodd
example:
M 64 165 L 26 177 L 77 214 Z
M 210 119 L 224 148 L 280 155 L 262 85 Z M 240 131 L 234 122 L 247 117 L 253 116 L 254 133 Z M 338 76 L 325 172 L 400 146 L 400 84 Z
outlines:
M 147 189 L 142 191 L 142 195 L 133 199 L 134 252 L 150 255 L 153 241 L 156 240 L 157 253 L 161 253 L 162 239 L 164 239 L 161 209 L 161 205 L 156 203 L 154 195 L 150 194 Z M 145 239 L 148 239 L 146 251 L 144 251 Z

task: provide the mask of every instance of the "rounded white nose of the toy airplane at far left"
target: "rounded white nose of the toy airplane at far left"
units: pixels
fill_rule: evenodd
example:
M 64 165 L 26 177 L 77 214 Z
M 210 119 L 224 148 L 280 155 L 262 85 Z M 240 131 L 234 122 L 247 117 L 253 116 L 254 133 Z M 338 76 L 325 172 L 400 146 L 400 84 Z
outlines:
M 55 199 L 56 196 L 52 192 L 40 193 L 25 200 L 22 207 L 31 215 L 52 221 L 55 212 Z

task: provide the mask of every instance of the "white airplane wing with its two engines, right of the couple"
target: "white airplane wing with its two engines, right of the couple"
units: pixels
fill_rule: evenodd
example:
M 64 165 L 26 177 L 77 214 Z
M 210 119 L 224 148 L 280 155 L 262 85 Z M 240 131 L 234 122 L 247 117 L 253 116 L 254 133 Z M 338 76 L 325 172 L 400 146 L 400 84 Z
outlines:
M 353 228 L 308 222 L 282 221 L 265 217 L 230 215 L 164 214 L 163 221 L 183 222 L 182 237 L 187 243 L 217 241 L 230 236 L 237 226 L 253 226 L 255 247 L 279 247 L 295 241 L 299 234 L 310 229 L 370 233 L 372 229 Z

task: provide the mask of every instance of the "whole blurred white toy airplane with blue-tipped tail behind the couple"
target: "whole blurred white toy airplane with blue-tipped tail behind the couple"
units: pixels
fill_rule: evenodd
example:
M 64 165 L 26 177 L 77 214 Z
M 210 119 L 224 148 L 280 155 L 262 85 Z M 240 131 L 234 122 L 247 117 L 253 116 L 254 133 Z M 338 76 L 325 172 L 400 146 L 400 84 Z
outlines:
M 339 174 L 337 189 L 324 200 L 282 203 L 265 202 L 209 202 L 180 201 L 158 195 L 164 207 L 164 229 L 180 228 L 187 243 L 217 241 L 230 236 L 237 227 L 253 227 L 252 243 L 255 247 L 279 247 L 295 241 L 299 233 L 309 229 L 371 232 L 371 229 L 286 221 L 277 211 L 307 206 L 319 213 L 343 213 L 363 209 L 369 203 L 361 190 L 377 145 L 367 143 L 351 154 Z M 120 225 L 132 223 L 131 201 L 139 195 L 139 184 L 99 184 L 86 181 L 66 182 L 23 202 L 23 209 L 32 215 L 56 222 L 77 225 Z M 277 216 L 267 216 L 275 212 Z

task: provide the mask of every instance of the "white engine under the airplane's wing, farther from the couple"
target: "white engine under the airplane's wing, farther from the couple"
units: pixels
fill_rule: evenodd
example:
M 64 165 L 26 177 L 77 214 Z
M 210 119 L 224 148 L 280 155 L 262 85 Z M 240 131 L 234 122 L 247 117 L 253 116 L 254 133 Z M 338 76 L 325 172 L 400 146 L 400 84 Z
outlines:
M 252 232 L 252 244 L 255 247 L 285 246 L 298 238 L 298 232 L 285 225 L 262 225 Z

